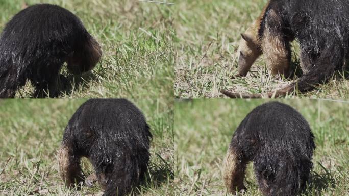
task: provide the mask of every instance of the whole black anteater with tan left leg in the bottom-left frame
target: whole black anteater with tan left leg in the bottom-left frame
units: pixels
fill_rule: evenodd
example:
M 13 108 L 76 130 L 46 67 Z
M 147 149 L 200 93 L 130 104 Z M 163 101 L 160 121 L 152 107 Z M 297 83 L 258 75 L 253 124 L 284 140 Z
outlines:
M 125 99 L 91 99 L 69 120 L 58 153 L 59 173 L 67 186 L 84 180 L 87 157 L 104 195 L 124 195 L 143 178 L 149 162 L 149 132 L 141 111 Z

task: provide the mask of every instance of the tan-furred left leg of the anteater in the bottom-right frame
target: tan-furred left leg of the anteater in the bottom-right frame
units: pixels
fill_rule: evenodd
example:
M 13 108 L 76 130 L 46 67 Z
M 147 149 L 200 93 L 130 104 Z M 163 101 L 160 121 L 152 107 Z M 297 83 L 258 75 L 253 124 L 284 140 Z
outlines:
M 244 188 L 245 165 L 242 165 L 237 158 L 236 151 L 230 147 L 223 161 L 223 179 L 230 193 Z

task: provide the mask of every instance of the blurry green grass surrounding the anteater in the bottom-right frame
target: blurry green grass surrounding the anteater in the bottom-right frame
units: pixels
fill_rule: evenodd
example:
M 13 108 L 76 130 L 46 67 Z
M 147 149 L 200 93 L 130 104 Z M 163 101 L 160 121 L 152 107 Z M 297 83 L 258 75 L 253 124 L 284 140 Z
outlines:
M 175 103 L 176 195 L 229 195 L 222 159 L 242 119 L 266 99 L 178 100 Z M 305 195 L 349 195 L 349 103 L 283 99 L 309 122 L 315 135 L 314 169 Z M 261 195 L 248 165 L 244 194 Z

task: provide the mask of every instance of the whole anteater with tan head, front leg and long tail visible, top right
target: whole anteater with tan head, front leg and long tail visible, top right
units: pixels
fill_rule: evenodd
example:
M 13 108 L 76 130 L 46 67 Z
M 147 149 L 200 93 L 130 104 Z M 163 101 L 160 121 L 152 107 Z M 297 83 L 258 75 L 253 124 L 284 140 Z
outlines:
M 242 34 L 239 76 L 245 76 L 263 53 L 271 74 L 289 74 L 290 41 L 300 43 L 303 76 L 297 82 L 265 94 L 221 90 L 229 97 L 284 96 L 294 89 L 306 92 L 326 82 L 336 70 L 347 70 L 349 58 L 349 1 L 270 0 L 254 25 Z

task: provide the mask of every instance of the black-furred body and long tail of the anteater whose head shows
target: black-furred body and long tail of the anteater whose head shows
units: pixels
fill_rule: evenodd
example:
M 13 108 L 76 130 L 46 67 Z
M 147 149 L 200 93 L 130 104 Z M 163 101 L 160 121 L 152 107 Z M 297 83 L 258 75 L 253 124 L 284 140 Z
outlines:
M 266 27 L 275 37 L 282 37 L 289 50 L 290 41 L 297 39 L 301 46 L 301 79 L 276 91 L 283 96 L 297 88 L 300 92 L 312 90 L 314 85 L 326 82 L 336 70 L 347 70 L 349 58 L 349 1 L 347 0 L 271 0 L 261 20 L 259 37 Z M 265 52 L 265 51 L 264 51 Z M 229 93 L 230 97 L 260 97 Z M 268 93 L 267 96 L 272 96 Z

